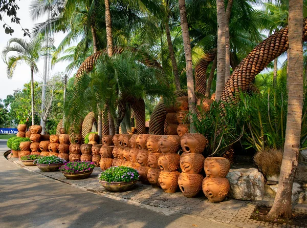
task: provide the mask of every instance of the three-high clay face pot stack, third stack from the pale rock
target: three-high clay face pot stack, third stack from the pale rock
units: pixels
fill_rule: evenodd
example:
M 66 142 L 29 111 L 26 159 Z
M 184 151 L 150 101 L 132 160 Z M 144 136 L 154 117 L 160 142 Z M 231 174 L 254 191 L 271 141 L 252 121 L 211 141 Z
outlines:
M 180 137 L 178 135 L 162 135 L 158 142 L 162 155 L 158 159 L 161 169 L 159 184 L 164 192 L 175 193 L 178 189 Z

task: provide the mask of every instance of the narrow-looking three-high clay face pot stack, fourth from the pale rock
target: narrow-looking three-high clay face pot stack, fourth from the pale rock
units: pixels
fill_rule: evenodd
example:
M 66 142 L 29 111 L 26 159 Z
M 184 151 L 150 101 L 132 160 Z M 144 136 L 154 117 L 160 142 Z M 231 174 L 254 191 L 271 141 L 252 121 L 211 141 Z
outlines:
M 147 173 L 147 178 L 149 183 L 151 184 L 152 188 L 160 188 L 159 184 L 159 175 L 160 175 L 160 168 L 158 167 L 158 159 L 162 155 L 159 149 L 159 139 L 161 135 L 150 135 L 147 138 L 146 146 L 148 149 L 148 165 L 149 170 Z

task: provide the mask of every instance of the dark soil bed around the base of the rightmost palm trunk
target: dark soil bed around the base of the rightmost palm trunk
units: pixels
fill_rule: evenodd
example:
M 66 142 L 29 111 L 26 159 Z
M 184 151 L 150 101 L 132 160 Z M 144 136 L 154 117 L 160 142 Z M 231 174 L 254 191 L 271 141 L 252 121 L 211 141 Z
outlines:
M 264 222 L 273 222 L 273 223 L 279 223 L 279 224 L 289 224 L 289 225 L 296 225 L 296 226 L 306 226 L 307 221 L 307 214 L 302 213 L 295 213 L 293 211 L 292 213 L 292 219 L 268 219 L 266 215 L 269 213 L 271 209 L 271 206 L 265 206 L 265 205 L 257 205 L 255 207 L 255 210 L 251 216 L 251 219 L 255 219 L 257 221 L 264 221 Z

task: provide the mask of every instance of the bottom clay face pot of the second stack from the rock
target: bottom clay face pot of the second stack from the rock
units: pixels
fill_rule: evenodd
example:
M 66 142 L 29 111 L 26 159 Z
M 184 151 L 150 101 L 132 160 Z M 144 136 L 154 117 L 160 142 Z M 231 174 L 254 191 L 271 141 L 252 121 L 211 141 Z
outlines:
M 202 191 L 203 175 L 181 173 L 178 185 L 185 197 L 195 197 Z

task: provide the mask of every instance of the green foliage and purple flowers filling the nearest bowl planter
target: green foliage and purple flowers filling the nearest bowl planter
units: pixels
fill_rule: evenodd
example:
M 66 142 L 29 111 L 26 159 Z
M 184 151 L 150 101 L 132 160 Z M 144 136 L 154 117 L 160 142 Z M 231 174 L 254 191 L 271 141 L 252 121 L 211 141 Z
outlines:
M 130 182 L 137 181 L 140 177 L 139 172 L 129 167 L 110 167 L 101 172 L 99 180 L 111 182 Z

